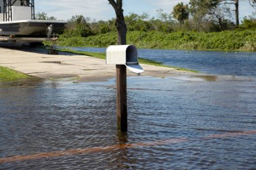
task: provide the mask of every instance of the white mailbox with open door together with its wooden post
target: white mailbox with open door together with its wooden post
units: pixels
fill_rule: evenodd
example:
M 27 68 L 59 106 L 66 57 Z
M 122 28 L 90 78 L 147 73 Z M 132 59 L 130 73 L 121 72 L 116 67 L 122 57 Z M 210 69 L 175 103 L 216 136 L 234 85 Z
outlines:
M 116 65 L 117 69 L 117 129 L 127 132 L 127 73 L 140 75 L 143 69 L 139 65 L 137 48 L 133 45 L 108 46 L 106 64 Z

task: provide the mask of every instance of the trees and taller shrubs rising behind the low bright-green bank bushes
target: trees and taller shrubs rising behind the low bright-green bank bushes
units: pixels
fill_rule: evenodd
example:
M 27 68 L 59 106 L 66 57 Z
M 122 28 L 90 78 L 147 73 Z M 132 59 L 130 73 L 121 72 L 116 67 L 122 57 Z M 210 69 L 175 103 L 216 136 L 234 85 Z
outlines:
M 211 7 L 209 7 L 209 4 L 202 5 L 200 3 L 200 5 L 195 5 L 195 1 L 191 0 L 191 2 L 194 2 L 191 3 L 191 7 L 183 5 L 183 3 L 178 3 L 172 10 L 172 13 L 166 13 L 162 9 L 159 9 L 156 17 L 150 17 L 148 13 L 141 15 L 130 13 L 125 16 L 127 30 L 170 33 L 177 31 L 220 32 L 234 30 L 236 28 L 243 30 L 256 28 L 256 13 L 243 18 L 241 24 L 237 26 L 233 21 L 232 11 L 228 7 L 224 10 L 221 5 L 218 5 L 218 8 L 212 7 L 214 5 L 210 5 Z M 214 11 L 218 11 L 218 13 Z M 46 13 L 37 13 L 36 19 L 56 18 L 48 17 Z M 108 21 L 101 20 L 96 22 L 95 19 L 91 19 L 90 17 L 75 15 L 68 22 L 64 32 L 66 37 L 88 37 L 117 31 L 115 28 L 115 18 L 109 19 Z

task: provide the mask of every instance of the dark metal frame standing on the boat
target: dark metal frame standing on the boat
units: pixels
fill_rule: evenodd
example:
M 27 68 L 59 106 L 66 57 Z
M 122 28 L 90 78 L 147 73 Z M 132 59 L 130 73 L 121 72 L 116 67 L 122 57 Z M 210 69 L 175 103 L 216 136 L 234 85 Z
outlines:
M 18 0 L 3 0 L 3 21 L 4 22 L 11 22 L 12 21 L 12 10 L 11 7 L 13 4 Z M 34 13 L 34 0 L 19 0 L 22 6 L 31 7 L 31 19 L 35 19 Z

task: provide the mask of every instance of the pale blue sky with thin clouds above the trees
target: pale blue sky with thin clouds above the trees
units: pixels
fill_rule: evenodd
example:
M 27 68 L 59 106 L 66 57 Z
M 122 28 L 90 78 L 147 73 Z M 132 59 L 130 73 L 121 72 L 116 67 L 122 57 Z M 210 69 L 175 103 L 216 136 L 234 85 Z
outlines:
M 54 16 L 57 19 L 67 20 L 73 15 L 84 15 L 92 19 L 107 21 L 115 17 L 113 7 L 108 0 L 34 0 L 36 13 L 44 12 L 49 17 Z M 124 14 L 129 13 L 141 14 L 146 12 L 150 17 L 156 17 L 156 10 L 163 9 L 166 13 L 171 13 L 174 5 L 183 2 L 188 4 L 189 0 L 123 0 Z M 240 19 L 256 12 L 249 5 L 248 0 L 240 2 Z

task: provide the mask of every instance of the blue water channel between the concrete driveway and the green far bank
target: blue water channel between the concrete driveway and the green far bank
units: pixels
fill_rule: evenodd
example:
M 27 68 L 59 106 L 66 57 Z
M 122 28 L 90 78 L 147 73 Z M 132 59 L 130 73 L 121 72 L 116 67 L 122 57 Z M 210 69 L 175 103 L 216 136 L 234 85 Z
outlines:
M 72 48 L 88 52 L 105 52 L 106 48 Z M 256 52 L 185 51 L 138 49 L 141 58 L 164 65 L 193 69 L 212 75 L 256 76 Z

